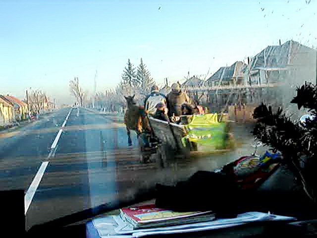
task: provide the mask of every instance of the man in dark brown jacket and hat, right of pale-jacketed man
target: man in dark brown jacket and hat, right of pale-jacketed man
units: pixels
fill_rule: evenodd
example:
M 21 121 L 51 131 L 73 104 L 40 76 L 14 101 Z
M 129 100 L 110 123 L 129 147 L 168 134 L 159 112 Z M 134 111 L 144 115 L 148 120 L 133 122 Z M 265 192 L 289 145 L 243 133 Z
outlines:
M 168 110 L 170 116 L 180 116 L 182 115 L 182 105 L 184 103 L 191 104 L 190 97 L 181 91 L 179 84 L 172 84 L 172 91 L 167 95 Z

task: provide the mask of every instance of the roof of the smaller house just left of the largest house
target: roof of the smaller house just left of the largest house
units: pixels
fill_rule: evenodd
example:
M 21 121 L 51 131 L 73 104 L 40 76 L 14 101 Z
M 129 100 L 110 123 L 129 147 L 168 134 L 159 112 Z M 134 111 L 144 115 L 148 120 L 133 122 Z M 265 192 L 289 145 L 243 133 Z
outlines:
M 242 61 L 236 61 L 230 66 L 220 67 L 206 82 L 210 83 L 218 80 L 227 82 L 235 77 L 243 77 L 242 69 L 245 67 L 246 64 Z

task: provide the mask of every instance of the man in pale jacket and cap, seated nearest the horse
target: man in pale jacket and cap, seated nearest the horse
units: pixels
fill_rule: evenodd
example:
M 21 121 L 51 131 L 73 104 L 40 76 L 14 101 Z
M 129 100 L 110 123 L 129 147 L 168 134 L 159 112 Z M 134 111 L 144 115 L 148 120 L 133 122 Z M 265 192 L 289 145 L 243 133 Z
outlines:
M 157 105 L 162 102 L 164 105 L 167 104 L 166 96 L 159 93 L 159 87 L 154 85 L 151 89 L 151 94 L 148 95 L 144 100 L 144 109 L 149 114 L 154 116 L 157 111 Z

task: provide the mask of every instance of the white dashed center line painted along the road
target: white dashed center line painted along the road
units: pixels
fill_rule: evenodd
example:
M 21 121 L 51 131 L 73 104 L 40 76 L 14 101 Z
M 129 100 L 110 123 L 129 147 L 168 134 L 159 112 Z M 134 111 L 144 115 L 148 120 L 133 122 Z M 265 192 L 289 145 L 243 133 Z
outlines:
M 69 118 L 69 115 L 70 115 L 70 113 L 71 113 L 71 110 L 72 110 L 72 108 L 70 108 L 70 111 L 68 112 L 68 114 L 67 114 L 67 116 L 66 116 L 66 118 L 65 118 L 65 120 L 64 120 L 64 122 L 63 122 L 63 124 L 62 124 L 61 127 L 64 127 L 64 126 L 66 125 L 66 122 L 67 122 L 67 120 L 68 120 L 68 118 Z M 50 152 L 50 154 L 48 155 L 47 160 L 50 159 L 50 157 L 51 157 L 51 155 L 52 155 L 52 151 L 55 150 L 55 148 L 56 148 L 56 146 L 57 146 L 57 143 L 58 143 L 58 140 L 59 140 L 59 138 L 60 138 L 62 132 L 63 132 L 63 129 L 62 129 L 62 128 L 59 129 L 59 131 L 58 131 L 58 133 L 57 133 L 57 135 L 56 135 L 56 137 L 55 137 L 55 139 L 54 139 L 54 141 L 53 141 L 53 143 L 52 143 L 52 145 L 51 145 L 51 152 Z M 49 165 L 49 162 L 50 162 L 50 161 L 42 162 L 41 167 L 39 168 L 39 170 L 38 170 L 38 172 L 36 173 L 36 175 L 35 175 L 35 177 L 34 177 L 32 183 L 31 183 L 30 187 L 28 188 L 28 190 L 26 191 L 26 193 L 25 193 L 25 195 L 24 195 L 24 209 L 25 209 L 25 210 L 24 210 L 24 214 L 27 213 L 27 211 L 28 211 L 28 209 L 29 209 L 29 207 L 30 207 L 30 205 L 31 205 L 32 199 L 33 199 L 33 197 L 34 197 L 34 194 L 35 194 L 36 190 L 38 189 L 38 187 L 39 187 L 39 185 L 40 185 L 40 183 L 41 183 L 41 180 L 42 180 L 42 178 L 43 178 L 43 176 L 44 176 L 44 173 L 45 173 L 45 171 L 46 171 L 46 168 L 47 168 L 48 165 Z

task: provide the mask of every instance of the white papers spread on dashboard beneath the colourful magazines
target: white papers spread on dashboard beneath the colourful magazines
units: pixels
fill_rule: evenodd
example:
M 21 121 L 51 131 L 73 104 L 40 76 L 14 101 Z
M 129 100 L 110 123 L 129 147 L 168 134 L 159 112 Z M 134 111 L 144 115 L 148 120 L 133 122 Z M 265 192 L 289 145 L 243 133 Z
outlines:
M 120 215 L 115 215 L 94 219 L 92 224 L 97 230 L 100 238 L 139 238 L 149 235 L 207 231 L 239 226 L 251 222 L 287 220 L 296 219 L 294 217 L 277 216 L 262 212 L 246 212 L 231 219 L 216 219 L 210 222 L 200 222 L 178 226 L 134 229 L 131 224 L 123 221 Z

